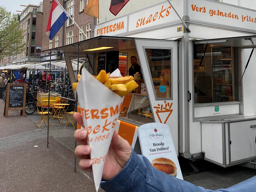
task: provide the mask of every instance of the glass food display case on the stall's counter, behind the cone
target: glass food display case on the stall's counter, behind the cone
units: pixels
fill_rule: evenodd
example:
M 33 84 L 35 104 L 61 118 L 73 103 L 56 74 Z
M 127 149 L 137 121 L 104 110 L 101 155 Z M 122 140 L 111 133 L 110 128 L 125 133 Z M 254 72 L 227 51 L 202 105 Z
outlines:
M 129 110 L 127 112 L 127 118 L 141 123 L 154 122 L 152 110 L 147 96 L 140 94 L 133 95 Z

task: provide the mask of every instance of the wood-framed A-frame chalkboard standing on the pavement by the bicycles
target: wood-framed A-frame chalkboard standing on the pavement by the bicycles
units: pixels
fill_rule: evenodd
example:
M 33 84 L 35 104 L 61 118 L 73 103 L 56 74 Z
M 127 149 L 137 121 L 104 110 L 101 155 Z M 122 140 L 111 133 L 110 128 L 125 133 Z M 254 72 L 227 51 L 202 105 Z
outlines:
M 20 115 L 25 116 L 27 84 L 8 83 L 5 100 L 4 116 L 8 117 L 8 110 L 21 110 Z

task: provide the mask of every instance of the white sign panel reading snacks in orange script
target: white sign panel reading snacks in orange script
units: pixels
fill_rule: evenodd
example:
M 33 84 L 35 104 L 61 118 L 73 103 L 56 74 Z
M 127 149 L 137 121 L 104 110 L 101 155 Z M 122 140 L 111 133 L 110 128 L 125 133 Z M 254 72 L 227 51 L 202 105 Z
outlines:
M 182 2 L 174 1 L 173 6 L 178 13 L 183 14 Z M 172 9 L 172 6 L 166 2 L 129 15 L 129 31 L 154 27 L 175 20 L 179 20 L 179 17 Z

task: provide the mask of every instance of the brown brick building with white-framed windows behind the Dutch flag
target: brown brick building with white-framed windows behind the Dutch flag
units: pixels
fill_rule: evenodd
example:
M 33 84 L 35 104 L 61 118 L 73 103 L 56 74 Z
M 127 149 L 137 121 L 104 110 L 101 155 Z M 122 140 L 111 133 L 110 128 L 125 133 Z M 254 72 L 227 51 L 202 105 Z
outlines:
M 64 0 L 65 4 L 63 6 L 63 1 L 59 3 L 67 10 L 67 12 L 72 15 L 74 21 L 78 26 L 83 27 L 85 34 L 88 34 L 89 38 L 93 37 L 93 29 L 96 25 L 97 18 L 84 14 L 84 9 L 86 8 L 86 3 L 88 0 Z M 64 24 L 64 33 L 63 26 L 60 28 L 58 33 L 52 39 L 52 42 L 49 41 L 49 37 L 46 35 L 46 27 L 48 23 L 49 13 L 51 9 L 52 1 L 44 0 L 44 16 L 42 22 L 42 50 L 49 48 L 60 47 L 62 45 L 67 45 L 70 43 L 78 42 L 79 40 L 85 40 L 86 37 L 82 35 L 81 31 L 79 33 L 79 28 L 72 22 L 71 19 L 67 19 Z M 80 36 L 80 37 L 79 37 Z M 67 41 L 68 40 L 68 41 Z M 57 45 L 56 45 L 57 44 Z M 45 54 L 41 54 L 41 57 Z

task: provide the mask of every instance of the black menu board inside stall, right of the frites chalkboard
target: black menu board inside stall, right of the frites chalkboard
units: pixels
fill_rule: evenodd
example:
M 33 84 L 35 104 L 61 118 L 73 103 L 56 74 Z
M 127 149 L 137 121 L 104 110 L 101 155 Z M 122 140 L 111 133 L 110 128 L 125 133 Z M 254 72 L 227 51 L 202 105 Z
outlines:
M 119 51 L 106 52 L 106 72 L 112 73 L 119 67 Z

